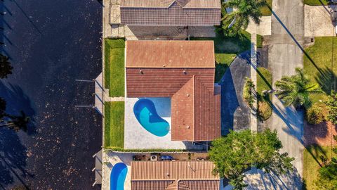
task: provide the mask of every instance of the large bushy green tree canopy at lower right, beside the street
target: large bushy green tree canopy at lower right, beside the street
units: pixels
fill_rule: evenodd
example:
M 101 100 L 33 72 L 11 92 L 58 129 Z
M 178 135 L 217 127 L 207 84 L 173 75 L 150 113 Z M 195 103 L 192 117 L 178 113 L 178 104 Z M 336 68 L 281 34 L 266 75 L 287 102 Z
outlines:
M 209 156 L 216 165 L 213 172 L 229 179 L 234 189 L 246 186 L 244 172 L 251 167 L 277 175 L 293 170 L 293 158 L 287 153 L 279 153 L 282 142 L 277 138 L 277 132 L 270 129 L 258 133 L 231 131 L 226 137 L 213 141 L 212 146 Z

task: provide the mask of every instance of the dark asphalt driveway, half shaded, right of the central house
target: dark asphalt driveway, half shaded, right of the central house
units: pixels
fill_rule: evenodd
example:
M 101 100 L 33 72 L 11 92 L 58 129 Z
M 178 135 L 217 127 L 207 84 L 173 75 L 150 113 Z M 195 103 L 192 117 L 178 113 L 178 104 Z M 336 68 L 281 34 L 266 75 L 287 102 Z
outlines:
M 242 97 L 244 78 L 249 75 L 249 52 L 246 51 L 234 59 L 220 80 L 222 135 L 226 135 L 230 129 L 250 129 L 250 109 Z

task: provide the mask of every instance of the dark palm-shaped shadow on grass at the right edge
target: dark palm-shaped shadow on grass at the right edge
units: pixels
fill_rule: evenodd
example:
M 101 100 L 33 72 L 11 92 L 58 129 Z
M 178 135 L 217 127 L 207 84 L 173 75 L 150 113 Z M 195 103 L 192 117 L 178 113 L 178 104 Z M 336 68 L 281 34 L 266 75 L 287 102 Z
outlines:
M 326 94 L 330 94 L 331 90 L 336 90 L 337 75 L 328 67 L 321 68 L 320 70 L 321 72 L 317 73 L 315 80 Z

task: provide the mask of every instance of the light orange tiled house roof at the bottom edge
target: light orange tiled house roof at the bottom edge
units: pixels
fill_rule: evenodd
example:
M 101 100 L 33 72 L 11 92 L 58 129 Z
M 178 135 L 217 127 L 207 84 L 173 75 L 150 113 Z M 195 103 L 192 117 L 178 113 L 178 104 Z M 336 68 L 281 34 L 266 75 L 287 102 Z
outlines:
M 209 161 L 133 161 L 132 190 L 218 190 L 220 177 Z

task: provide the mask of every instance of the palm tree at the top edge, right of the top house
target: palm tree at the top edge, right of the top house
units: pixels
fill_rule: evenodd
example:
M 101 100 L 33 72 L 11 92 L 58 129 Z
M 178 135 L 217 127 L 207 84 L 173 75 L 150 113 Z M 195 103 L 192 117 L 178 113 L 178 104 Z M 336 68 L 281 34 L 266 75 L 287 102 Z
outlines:
M 266 0 L 223 1 L 222 29 L 224 32 L 237 34 L 240 30 L 246 30 L 250 18 L 259 25 L 262 16 L 260 9 L 263 6 L 267 6 Z M 233 8 L 232 13 L 227 13 L 226 8 Z

